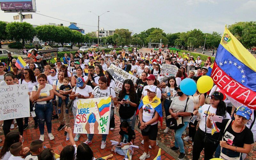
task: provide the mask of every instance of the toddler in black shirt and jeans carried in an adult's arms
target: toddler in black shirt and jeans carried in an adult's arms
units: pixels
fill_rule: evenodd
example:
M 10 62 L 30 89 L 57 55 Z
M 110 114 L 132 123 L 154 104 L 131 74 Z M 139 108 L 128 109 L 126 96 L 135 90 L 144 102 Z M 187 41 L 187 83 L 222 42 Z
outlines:
M 66 104 L 66 113 L 68 114 L 68 100 L 69 100 L 69 94 L 72 92 L 72 87 L 69 85 L 69 78 L 65 77 L 63 79 L 63 84 L 60 86 L 59 90 L 61 95 L 66 96 L 65 104 Z M 61 113 L 61 104 L 62 104 L 62 98 L 59 98 L 59 104 L 58 104 L 58 113 Z

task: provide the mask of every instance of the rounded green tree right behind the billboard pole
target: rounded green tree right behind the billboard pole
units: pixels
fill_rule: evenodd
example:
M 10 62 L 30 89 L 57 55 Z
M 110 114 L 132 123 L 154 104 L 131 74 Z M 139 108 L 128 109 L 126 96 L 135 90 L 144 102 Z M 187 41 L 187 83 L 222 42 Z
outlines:
M 14 38 L 17 41 L 22 39 L 22 44 L 25 46 L 25 41 L 36 36 L 36 29 L 27 22 L 12 22 L 6 25 L 6 33 L 9 38 Z

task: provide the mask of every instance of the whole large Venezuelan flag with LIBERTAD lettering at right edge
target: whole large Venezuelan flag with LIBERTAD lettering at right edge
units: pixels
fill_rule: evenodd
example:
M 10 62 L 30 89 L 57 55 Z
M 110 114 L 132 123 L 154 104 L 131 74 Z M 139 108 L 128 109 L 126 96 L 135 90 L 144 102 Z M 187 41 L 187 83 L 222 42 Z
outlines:
M 256 59 L 225 27 L 211 75 L 228 96 L 256 109 Z

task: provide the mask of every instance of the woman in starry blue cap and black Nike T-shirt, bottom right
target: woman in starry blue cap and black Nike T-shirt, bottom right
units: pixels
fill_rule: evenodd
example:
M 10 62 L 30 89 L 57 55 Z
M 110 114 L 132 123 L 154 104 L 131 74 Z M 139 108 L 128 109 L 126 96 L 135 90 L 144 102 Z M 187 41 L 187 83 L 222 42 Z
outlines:
M 216 127 L 224 131 L 220 140 L 220 158 L 222 159 L 242 159 L 242 153 L 250 153 L 253 141 L 252 131 L 245 126 L 251 118 L 252 110 L 246 106 L 240 106 L 234 114 L 235 120 L 224 119 L 216 122 Z M 207 118 L 207 127 L 212 127 L 211 116 Z M 216 158 L 216 155 L 215 155 Z

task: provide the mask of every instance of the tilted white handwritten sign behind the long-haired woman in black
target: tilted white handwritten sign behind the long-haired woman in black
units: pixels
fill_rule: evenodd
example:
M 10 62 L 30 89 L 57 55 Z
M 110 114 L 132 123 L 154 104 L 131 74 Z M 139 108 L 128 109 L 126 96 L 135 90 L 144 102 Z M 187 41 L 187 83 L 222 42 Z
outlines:
M 135 84 L 137 81 L 137 77 L 131 75 L 130 73 L 124 71 L 121 68 L 116 67 L 114 64 L 111 64 L 109 68 L 114 69 L 113 78 L 116 82 L 115 92 L 119 93 L 122 90 L 123 82 L 125 79 L 131 79 L 132 82 Z

